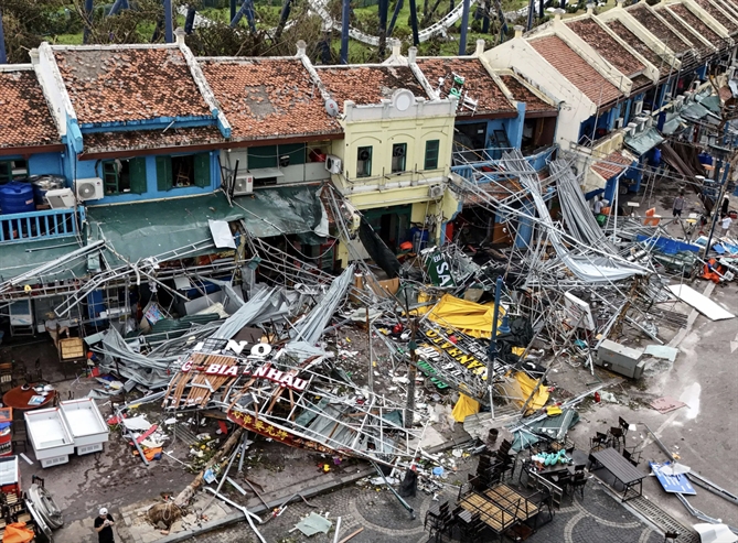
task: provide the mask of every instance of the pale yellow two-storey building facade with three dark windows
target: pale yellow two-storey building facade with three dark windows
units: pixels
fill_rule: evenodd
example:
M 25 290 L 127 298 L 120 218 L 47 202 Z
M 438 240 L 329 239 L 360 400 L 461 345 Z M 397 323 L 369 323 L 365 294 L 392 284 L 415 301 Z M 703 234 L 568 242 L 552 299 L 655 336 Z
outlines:
M 459 209 L 448 189 L 456 106 L 405 89 L 381 104 L 344 102 L 331 180 L 391 250 L 404 241 L 439 242 Z M 351 251 L 342 245 L 338 258 L 346 264 L 366 253 L 355 241 Z

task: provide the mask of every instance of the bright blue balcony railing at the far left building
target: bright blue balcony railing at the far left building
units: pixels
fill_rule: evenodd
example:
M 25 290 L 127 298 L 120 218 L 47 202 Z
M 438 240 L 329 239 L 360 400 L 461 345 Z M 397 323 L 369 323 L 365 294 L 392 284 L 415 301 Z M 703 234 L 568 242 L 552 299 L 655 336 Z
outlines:
M 40 239 L 64 238 L 79 232 L 84 210 L 44 209 L 0 215 L 0 243 L 20 243 Z

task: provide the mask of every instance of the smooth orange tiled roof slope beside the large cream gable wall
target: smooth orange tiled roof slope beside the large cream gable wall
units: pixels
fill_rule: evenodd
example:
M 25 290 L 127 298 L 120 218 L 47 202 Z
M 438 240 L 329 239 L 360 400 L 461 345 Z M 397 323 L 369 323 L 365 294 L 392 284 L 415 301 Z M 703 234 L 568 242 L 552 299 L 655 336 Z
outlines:
M 560 37 L 532 40 L 531 45 L 592 102 L 601 106 L 622 96 L 620 89 L 600 75 Z

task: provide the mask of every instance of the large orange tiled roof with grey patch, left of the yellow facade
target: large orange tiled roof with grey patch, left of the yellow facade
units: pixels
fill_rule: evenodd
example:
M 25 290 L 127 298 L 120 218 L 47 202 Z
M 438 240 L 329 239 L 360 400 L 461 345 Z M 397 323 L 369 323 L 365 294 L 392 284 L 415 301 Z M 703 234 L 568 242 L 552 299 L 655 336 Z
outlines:
M 342 132 L 299 58 L 211 58 L 201 66 L 232 140 Z

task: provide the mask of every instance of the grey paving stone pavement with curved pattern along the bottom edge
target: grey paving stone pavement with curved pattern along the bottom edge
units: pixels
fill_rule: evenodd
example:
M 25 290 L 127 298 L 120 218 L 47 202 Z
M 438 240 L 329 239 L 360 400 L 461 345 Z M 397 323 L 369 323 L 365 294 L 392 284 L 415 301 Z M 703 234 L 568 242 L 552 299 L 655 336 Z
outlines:
M 454 489 L 447 490 L 442 498 L 453 499 Z M 397 499 L 387 490 L 376 491 L 374 487 L 362 489 L 346 487 L 329 495 L 310 500 L 318 508 L 311 509 L 304 503 L 293 503 L 281 517 L 260 526 L 261 534 L 269 543 L 331 543 L 333 529 L 328 534 L 306 537 L 298 531 L 289 532 L 295 523 L 310 511 L 330 513 L 329 519 L 341 517 L 341 537 L 359 528 L 364 531 L 353 537 L 351 543 L 426 543 L 428 532 L 424 531 L 423 519 L 431 503 L 429 496 L 418 493 L 408 499 L 417 509 L 417 518 L 410 519 Z M 256 537 L 246 523 L 204 534 L 190 540 L 197 543 L 256 542 Z M 445 542 L 451 540 L 443 539 Z M 489 541 L 496 541 L 492 537 Z M 579 495 L 567 497 L 561 509 L 555 512 L 554 520 L 539 528 L 538 532 L 526 540 L 528 543 L 663 543 L 663 535 L 651 529 L 609 493 L 601 485 L 591 479 L 585 490 L 585 498 Z

